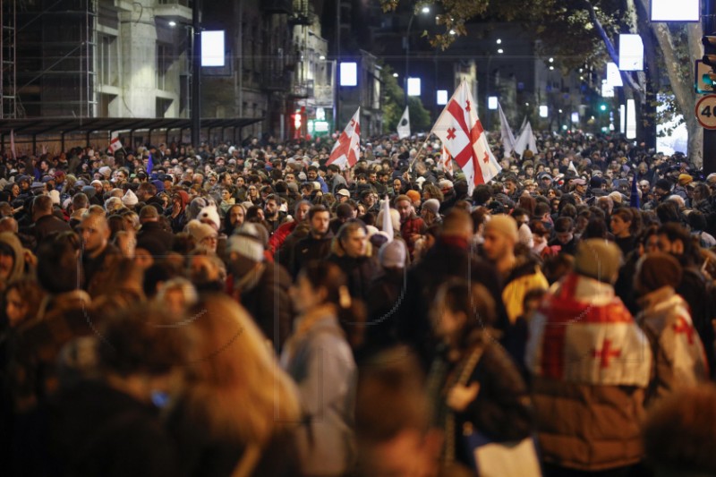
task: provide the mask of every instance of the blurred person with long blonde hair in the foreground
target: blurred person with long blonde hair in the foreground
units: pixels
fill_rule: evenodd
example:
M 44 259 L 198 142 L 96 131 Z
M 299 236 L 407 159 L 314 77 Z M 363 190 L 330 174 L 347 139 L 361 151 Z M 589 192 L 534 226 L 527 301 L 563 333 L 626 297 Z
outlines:
M 201 296 L 185 316 L 176 326 L 196 334 L 192 379 L 167 420 L 185 475 L 298 474 L 296 390 L 251 316 L 226 294 Z

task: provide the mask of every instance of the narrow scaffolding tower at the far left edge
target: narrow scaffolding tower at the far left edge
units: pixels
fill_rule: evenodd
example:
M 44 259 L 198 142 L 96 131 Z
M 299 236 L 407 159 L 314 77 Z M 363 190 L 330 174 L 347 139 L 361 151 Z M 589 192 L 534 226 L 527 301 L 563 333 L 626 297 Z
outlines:
M 0 119 L 14 119 L 17 117 L 16 89 L 17 77 L 15 74 L 15 33 L 17 4 L 16 0 L 0 0 Z

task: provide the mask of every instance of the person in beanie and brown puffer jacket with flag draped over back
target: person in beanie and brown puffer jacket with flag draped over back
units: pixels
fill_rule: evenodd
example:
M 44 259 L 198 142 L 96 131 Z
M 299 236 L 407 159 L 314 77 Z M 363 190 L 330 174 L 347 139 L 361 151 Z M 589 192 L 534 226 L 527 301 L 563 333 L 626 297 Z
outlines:
M 614 294 L 620 260 L 614 243 L 583 241 L 531 319 L 524 361 L 547 475 L 626 475 L 643 457 L 652 353 Z

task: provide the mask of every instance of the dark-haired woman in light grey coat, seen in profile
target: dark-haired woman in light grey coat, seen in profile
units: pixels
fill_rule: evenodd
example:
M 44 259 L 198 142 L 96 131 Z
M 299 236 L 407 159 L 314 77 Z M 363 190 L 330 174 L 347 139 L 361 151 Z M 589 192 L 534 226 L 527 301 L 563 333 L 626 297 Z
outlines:
M 357 371 L 342 327 L 354 326 L 348 318 L 351 296 L 336 265 L 313 261 L 298 274 L 291 298 L 299 316 L 281 365 L 296 381 L 303 405 L 301 470 L 307 475 L 344 475 L 354 464 Z

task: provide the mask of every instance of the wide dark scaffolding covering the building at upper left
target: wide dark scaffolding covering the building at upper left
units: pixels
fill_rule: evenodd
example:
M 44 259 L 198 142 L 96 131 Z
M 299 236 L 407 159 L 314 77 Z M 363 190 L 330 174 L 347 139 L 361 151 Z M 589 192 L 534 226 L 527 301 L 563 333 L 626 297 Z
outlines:
M 96 116 L 98 0 L 16 1 L 15 117 Z

